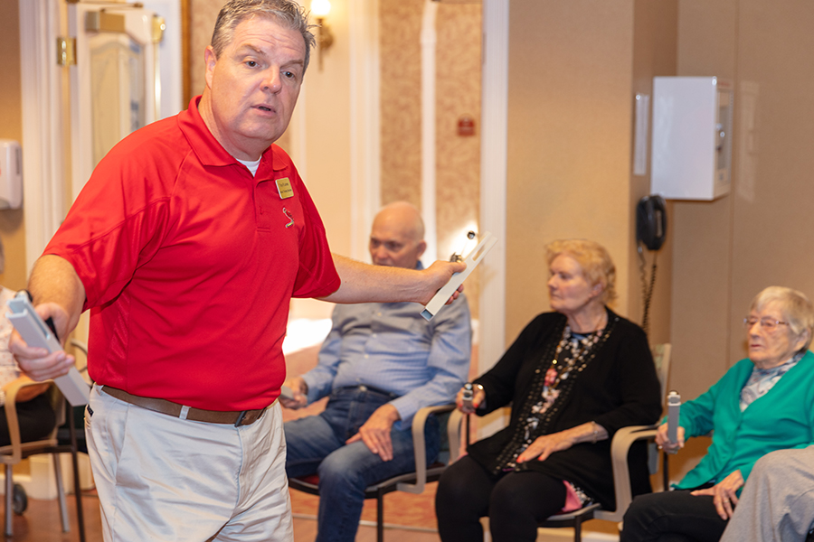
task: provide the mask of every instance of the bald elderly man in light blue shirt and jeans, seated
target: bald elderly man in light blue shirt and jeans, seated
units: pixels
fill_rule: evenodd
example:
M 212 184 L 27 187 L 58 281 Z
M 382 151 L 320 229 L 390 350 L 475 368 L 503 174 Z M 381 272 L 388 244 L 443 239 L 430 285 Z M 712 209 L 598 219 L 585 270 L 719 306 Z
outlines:
M 427 247 L 421 214 L 404 201 L 374 219 L 370 256 L 376 266 L 421 269 Z M 364 488 L 415 468 L 412 416 L 422 406 L 451 403 L 467 379 L 469 304 L 461 294 L 430 322 L 414 303 L 336 305 L 317 367 L 286 385 L 300 408 L 330 396 L 326 409 L 285 424 L 290 477 L 319 473 L 317 542 L 352 541 Z M 440 430 L 426 426 L 427 461 L 438 455 Z

